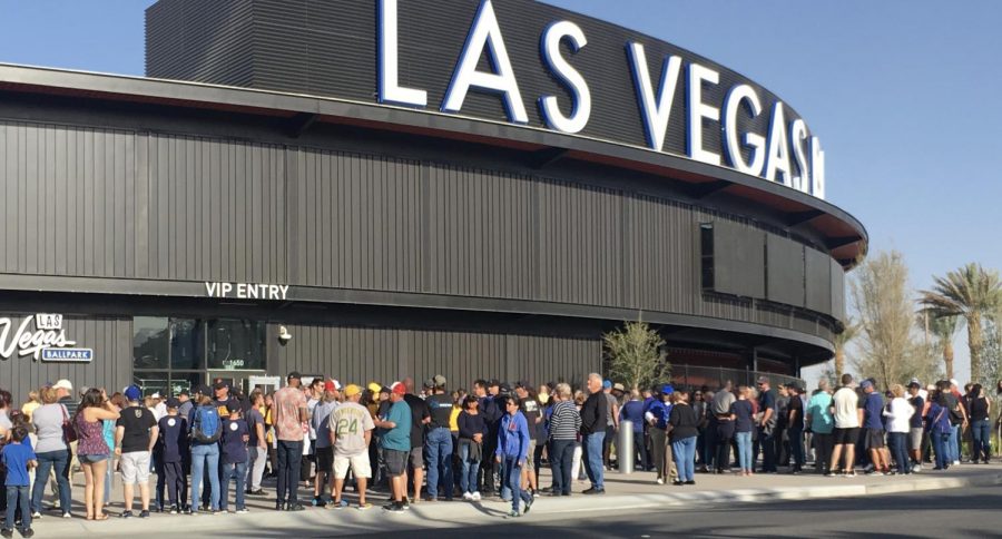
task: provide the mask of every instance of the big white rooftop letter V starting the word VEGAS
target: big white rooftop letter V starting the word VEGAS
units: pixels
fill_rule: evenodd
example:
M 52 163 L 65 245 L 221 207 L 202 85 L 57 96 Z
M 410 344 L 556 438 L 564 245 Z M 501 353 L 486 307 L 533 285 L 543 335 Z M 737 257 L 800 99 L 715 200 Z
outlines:
M 633 87 L 640 105 L 640 116 L 647 134 L 647 145 L 658 151 L 665 146 L 665 131 L 671 117 L 671 101 L 675 100 L 675 88 L 678 86 L 678 72 L 681 69 L 681 57 L 671 56 L 661 65 L 661 82 L 655 101 L 650 86 L 650 71 L 647 68 L 647 53 L 640 43 L 628 42 L 627 53 L 633 72 Z

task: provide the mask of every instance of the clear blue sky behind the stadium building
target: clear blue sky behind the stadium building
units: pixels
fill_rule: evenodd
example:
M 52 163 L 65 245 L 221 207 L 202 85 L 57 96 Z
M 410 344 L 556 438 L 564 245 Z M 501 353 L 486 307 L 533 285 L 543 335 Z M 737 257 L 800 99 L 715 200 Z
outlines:
M 143 75 L 151 3 L 0 0 L 0 61 Z M 779 95 L 822 138 L 828 200 L 866 225 L 872 252 L 901 251 L 916 288 L 967 262 L 1002 268 L 1002 2 L 549 3 L 688 48 Z

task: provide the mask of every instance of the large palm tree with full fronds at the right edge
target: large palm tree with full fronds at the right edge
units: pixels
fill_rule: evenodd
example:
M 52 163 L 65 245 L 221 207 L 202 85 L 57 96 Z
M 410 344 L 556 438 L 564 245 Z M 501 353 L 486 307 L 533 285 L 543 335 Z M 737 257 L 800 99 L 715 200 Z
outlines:
M 980 380 L 983 374 L 981 352 L 984 347 L 981 324 L 1002 304 L 999 274 L 971 263 L 946 273 L 945 277 L 934 276 L 933 282 L 933 290 L 922 291 L 920 303 L 936 318 L 963 316 L 967 324 L 967 347 L 971 350 L 971 378 Z

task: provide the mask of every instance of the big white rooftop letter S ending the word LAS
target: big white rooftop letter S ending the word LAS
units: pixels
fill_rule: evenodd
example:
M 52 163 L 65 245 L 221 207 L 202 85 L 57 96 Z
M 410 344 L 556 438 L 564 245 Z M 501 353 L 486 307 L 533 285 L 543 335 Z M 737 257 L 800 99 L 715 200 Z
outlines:
M 588 84 L 581 77 L 581 74 L 560 56 L 560 41 L 563 38 L 570 41 L 573 52 L 581 50 L 582 47 L 588 45 L 581 28 L 573 22 L 564 20 L 550 24 L 543 31 L 540 48 L 547 66 L 570 90 L 574 104 L 573 109 L 570 118 L 563 116 L 554 96 L 539 98 L 539 109 L 548 127 L 562 133 L 578 133 L 584 129 L 584 126 L 588 125 L 588 118 L 591 116 L 591 91 L 588 89 Z

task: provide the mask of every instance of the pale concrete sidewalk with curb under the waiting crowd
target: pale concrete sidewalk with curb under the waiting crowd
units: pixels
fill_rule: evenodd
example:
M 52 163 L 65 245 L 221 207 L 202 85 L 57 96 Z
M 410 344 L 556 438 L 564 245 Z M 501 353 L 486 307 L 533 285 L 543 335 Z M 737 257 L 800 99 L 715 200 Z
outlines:
M 733 474 L 697 474 L 696 486 L 659 486 L 654 473 L 635 472 L 621 474 L 606 473 L 605 496 L 583 496 L 579 492 L 588 487 L 576 482 L 571 497 L 537 498 L 525 519 L 572 517 L 576 512 L 645 512 L 659 509 L 685 509 L 704 507 L 708 503 L 746 503 L 776 500 L 808 500 L 823 498 L 845 498 L 878 496 L 895 492 L 932 491 L 961 487 L 1002 483 L 1002 465 L 965 464 L 953 467 L 945 472 L 924 471 L 912 476 L 856 478 L 824 478 L 814 473 L 756 474 L 740 477 Z M 73 499 L 82 497 L 82 474 L 75 476 Z M 549 484 L 549 472 L 543 472 L 540 484 Z M 371 493 L 373 508 L 358 511 L 354 508 L 333 510 L 307 507 L 302 512 L 276 512 L 274 507 L 274 482 L 266 482 L 266 498 L 248 497 L 247 514 L 217 516 L 173 516 L 153 514 L 149 519 L 116 518 L 121 511 L 120 481 L 116 478 L 112 504 L 107 511 L 112 517 L 102 522 L 89 522 L 82 518 L 82 508 L 75 503 L 75 518 L 58 518 L 50 512 L 33 526 L 37 537 L 118 537 L 145 535 L 148 537 L 331 537 L 345 533 L 379 533 L 399 530 L 433 529 L 484 525 L 497 522 L 511 508 L 509 502 L 484 500 L 472 503 L 465 501 L 434 503 L 420 502 L 405 513 L 386 513 L 380 509 L 386 499 L 384 494 Z M 312 499 L 312 490 L 299 490 L 301 501 Z M 230 494 L 232 496 L 232 494 Z M 354 502 L 354 493 L 345 496 Z M 134 512 L 138 513 L 138 500 Z M 233 503 L 230 502 L 230 508 Z

